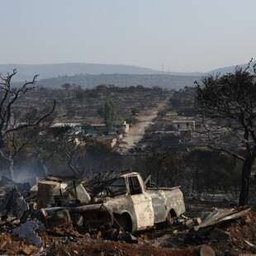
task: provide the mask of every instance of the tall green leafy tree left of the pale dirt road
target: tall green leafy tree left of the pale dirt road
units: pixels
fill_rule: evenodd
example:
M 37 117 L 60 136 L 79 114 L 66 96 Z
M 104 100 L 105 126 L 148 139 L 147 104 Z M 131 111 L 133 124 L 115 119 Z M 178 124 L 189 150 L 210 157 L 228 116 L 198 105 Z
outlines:
M 117 103 L 112 100 L 102 102 L 97 113 L 104 118 L 107 132 L 111 132 L 113 125 L 116 124 L 120 116 Z

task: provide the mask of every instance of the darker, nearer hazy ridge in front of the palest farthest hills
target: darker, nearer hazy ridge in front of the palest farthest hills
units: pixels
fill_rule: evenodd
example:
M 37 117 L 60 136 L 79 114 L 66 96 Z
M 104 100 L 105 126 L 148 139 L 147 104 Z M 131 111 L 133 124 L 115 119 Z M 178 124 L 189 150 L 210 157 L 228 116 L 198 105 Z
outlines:
M 191 87 L 195 80 L 201 77 L 194 76 L 178 76 L 168 74 L 88 74 L 76 75 L 71 77 L 50 78 L 40 80 L 37 85 L 45 88 L 59 88 L 64 83 L 74 83 L 81 85 L 83 88 L 93 88 L 99 84 L 106 83 L 118 87 L 130 87 L 143 85 L 152 88 L 159 86 L 160 88 L 184 88 Z

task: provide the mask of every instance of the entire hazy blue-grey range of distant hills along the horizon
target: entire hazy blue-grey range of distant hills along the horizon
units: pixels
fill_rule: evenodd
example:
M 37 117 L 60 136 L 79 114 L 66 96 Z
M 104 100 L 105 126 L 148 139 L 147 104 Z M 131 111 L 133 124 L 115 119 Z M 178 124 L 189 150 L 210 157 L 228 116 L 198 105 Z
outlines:
M 239 65 L 242 68 L 246 66 L 247 64 Z M 5 76 L 7 72 L 11 73 L 13 69 L 17 69 L 17 75 L 12 78 L 12 82 L 30 81 L 35 74 L 40 74 L 38 84 L 48 88 L 59 88 L 64 83 L 74 83 L 83 88 L 92 88 L 106 83 L 121 87 L 141 84 L 146 87 L 159 86 L 178 89 L 192 86 L 195 80 L 198 81 L 208 73 L 230 73 L 234 71 L 235 67 L 214 69 L 207 73 L 167 73 L 122 64 L 0 64 L 0 73 Z

